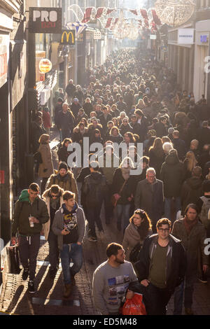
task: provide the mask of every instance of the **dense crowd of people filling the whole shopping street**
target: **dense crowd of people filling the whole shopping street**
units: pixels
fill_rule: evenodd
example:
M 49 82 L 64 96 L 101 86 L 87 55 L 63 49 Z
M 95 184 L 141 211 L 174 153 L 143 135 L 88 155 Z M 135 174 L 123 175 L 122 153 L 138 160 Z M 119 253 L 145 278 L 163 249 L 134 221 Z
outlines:
M 42 198 L 34 183 L 15 206 L 12 239 L 15 242 L 19 232 L 25 250 L 20 253 L 23 279 L 29 275 L 29 292 L 34 293 L 38 242 L 28 237 L 34 237 L 35 228 L 40 234 L 43 224 L 50 276 L 55 277 L 60 252 L 64 297 L 69 297 L 83 262 L 85 218 L 87 239 L 97 242 L 104 235 L 104 202 L 105 223 L 110 225 L 116 214 L 123 241 L 122 246 L 108 246 L 108 260 L 94 273 L 97 309 L 118 314 L 125 291 L 127 298 L 141 292 L 148 314 L 166 314 L 174 293 L 174 314 L 182 312 L 183 294 L 186 314 L 193 314 L 197 269 L 200 280 L 207 282 L 209 265 L 204 253 L 204 241 L 210 237 L 206 99 L 195 103 L 193 92 L 180 90 L 172 69 L 146 51 L 113 52 L 103 65 L 88 68 L 85 74 L 83 87 L 69 80 L 66 90 L 59 88 L 55 94 L 54 121 L 61 139 L 58 168 L 53 168 L 49 146 L 48 108 L 37 111 L 31 125 Z M 82 152 L 80 165 L 70 163 L 69 146 L 78 144 L 83 151 L 85 138 L 90 146 L 102 144 L 102 150 Z M 139 167 L 140 173 L 132 174 Z

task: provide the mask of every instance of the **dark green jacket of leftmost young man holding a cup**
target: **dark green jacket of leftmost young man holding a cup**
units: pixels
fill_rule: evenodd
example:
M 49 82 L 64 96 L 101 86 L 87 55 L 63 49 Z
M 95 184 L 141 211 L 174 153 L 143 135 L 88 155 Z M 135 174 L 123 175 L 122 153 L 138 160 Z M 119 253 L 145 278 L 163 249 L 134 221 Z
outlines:
M 40 223 L 34 223 L 34 228 L 30 228 L 29 216 L 35 217 Z M 11 235 L 15 237 L 17 232 L 25 236 L 39 234 L 42 224 L 47 223 L 48 220 L 49 215 L 45 202 L 40 197 L 36 197 L 31 204 L 28 190 L 23 190 L 19 200 L 15 203 Z

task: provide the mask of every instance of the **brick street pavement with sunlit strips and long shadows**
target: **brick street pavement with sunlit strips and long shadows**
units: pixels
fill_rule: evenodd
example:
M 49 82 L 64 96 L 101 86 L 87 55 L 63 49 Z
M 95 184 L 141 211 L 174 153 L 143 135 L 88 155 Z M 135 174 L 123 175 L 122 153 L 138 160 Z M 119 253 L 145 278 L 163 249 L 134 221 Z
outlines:
M 53 151 L 55 164 L 56 151 Z M 80 188 L 80 185 L 78 185 Z M 40 250 L 36 266 L 35 284 L 37 292 L 27 292 L 27 281 L 22 281 L 20 274 L 3 272 L 3 285 L 0 296 L 0 312 L 21 315 L 97 315 L 92 299 L 92 274 L 99 264 L 106 260 L 106 246 L 110 242 L 122 243 L 123 233 L 116 229 L 116 216 L 111 225 L 104 223 L 104 237 L 97 242 L 90 242 L 85 237 L 83 244 L 83 267 L 76 274 L 76 286 L 69 299 L 63 299 L 62 268 L 59 267 L 55 279 L 48 276 L 48 242 L 41 238 Z M 210 281 L 207 284 L 195 284 L 193 310 L 197 315 L 210 315 Z M 1 313 L 0 313 L 1 314 Z M 168 304 L 167 314 L 173 314 L 173 297 Z

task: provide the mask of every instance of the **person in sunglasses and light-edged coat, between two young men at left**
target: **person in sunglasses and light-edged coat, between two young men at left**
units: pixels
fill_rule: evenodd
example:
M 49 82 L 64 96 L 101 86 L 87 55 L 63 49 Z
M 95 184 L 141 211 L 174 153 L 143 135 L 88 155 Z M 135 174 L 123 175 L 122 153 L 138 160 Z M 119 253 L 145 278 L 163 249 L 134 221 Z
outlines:
M 52 232 L 52 223 L 55 217 L 56 211 L 62 207 L 64 203 L 63 195 L 64 190 L 57 185 L 52 185 L 48 190 L 45 190 L 42 197 L 48 208 L 48 214 L 50 221 L 43 225 L 43 233 L 46 241 L 49 244 L 49 260 L 50 269 L 49 275 L 51 279 L 55 278 L 57 269 L 59 266 L 59 248 L 57 245 L 57 235 Z

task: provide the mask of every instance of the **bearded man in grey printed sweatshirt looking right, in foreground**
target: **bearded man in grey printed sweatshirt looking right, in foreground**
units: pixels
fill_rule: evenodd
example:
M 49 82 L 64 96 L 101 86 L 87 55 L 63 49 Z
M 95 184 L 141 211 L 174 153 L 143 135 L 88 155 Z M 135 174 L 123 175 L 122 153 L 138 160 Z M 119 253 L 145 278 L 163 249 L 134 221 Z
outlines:
M 118 315 L 130 282 L 137 281 L 131 262 L 125 261 L 123 246 L 111 243 L 106 248 L 108 260 L 94 271 L 93 298 L 102 315 Z

